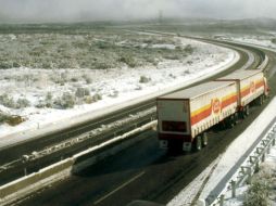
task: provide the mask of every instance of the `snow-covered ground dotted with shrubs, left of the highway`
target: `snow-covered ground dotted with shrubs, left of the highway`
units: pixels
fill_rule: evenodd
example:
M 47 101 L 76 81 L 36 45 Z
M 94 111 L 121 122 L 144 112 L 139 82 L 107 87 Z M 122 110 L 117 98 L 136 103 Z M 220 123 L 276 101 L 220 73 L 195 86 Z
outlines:
M 172 60 L 156 66 L 113 69 L 11 68 L 1 70 L 0 94 L 5 93 L 14 102 L 18 99 L 27 100 L 28 106 L 11 108 L 0 105 L 0 112 L 26 118 L 26 121 L 15 127 L 8 124 L 0 125 L 0 146 L 7 144 L 9 134 L 26 129 L 38 130 L 47 124 L 64 123 L 81 114 L 93 116 L 93 113 L 104 111 L 103 108 L 111 105 L 118 105 L 171 87 L 185 85 L 189 80 L 208 76 L 237 61 L 237 53 L 229 49 L 184 38 L 180 41 L 183 46 L 190 44 L 196 48 L 192 55 L 187 56 L 183 62 Z M 80 96 L 81 92 L 85 94 L 88 91 L 87 103 L 78 102 L 76 98 L 76 104 L 72 108 L 59 110 L 45 106 L 48 101 L 50 104 L 61 101 L 63 94 L 76 95 L 77 88 L 81 88 L 80 94 L 78 93 Z

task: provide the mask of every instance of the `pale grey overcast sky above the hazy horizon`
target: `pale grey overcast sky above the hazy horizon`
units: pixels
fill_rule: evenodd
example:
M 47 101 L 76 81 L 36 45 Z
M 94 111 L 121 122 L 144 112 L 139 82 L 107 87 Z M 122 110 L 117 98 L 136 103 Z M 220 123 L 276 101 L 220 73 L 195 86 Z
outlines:
M 276 0 L 0 0 L 0 22 L 164 17 L 276 18 Z

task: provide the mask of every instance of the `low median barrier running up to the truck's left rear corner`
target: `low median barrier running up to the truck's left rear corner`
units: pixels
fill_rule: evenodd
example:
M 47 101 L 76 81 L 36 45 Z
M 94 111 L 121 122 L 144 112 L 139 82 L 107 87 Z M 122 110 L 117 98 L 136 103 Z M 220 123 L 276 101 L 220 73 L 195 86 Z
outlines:
M 101 160 L 102 158 L 129 146 L 129 144 L 138 141 L 136 138 L 131 139 L 134 134 L 154 128 L 156 127 L 156 124 L 158 121 L 153 120 L 110 141 L 80 152 L 73 157 L 61 160 L 49 167 L 40 169 L 37 172 L 33 172 L 0 186 L 0 205 L 10 205 L 17 199 L 21 199 L 24 196 L 45 188 L 46 185 L 49 185 L 50 183 L 60 181 L 71 176 L 71 173 L 77 172 Z M 124 141 L 126 139 L 128 139 L 128 141 Z M 108 146 L 113 147 L 104 151 L 104 149 Z

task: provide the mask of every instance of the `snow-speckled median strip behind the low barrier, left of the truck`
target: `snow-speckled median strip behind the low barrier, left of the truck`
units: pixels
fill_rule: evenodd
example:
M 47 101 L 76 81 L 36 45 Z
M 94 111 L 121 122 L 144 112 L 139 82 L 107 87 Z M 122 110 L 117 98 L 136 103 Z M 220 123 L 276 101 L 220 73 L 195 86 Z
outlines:
M 115 138 L 122 133 L 126 133 L 136 128 L 139 128 L 141 125 L 152 121 L 153 119 L 155 119 L 155 107 L 148 108 L 146 111 L 129 115 L 123 119 L 113 121 L 111 124 L 101 125 L 99 128 L 96 128 L 89 132 L 64 140 L 51 146 L 47 146 L 41 151 L 34 151 L 30 154 L 24 154 L 21 158 L 0 166 L 0 175 L 4 176 L 5 173 L 10 173 L 10 171 L 14 168 L 22 168 L 21 175 L 15 178 L 23 177 L 24 175 L 26 176 L 28 172 L 34 171 L 33 169 L 29 169 L 29 166 L 34 165 L 35 162 L 47 157 L 48 155 L 52 155 L 52 160 L 51 163 L 48 163 L 48 165 L 57 163 L 63 159 L 63 156 L 60 157 L 59 155 L 62 155 L 63 151 L 68 152 L 72 149 L 77 149 L 80 152 L 87 150 L 88 147 L 91 147 L 95 144 L 100 144 L 102 141 L 109 141 L 105 140 L 105 137 Z M 40 168 L 43 168 L 48 165 L 41 164 Z M 13 179 L 2 180 L 1 183 L 3 184 L 12 180 Z

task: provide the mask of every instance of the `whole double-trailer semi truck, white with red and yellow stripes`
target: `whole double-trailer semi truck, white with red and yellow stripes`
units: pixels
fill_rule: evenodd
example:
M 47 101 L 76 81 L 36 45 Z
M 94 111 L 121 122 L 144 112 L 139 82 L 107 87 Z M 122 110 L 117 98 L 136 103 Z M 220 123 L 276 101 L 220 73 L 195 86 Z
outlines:
M 263 102 L 268 86 L 262 70 L 240 70 L 158 98 L 158 136 L 163 149 L 200 151 L 206 131 L 217 124 L 234 127 L 249 114 L 249 104 Z

